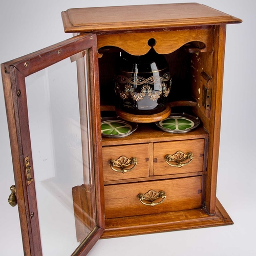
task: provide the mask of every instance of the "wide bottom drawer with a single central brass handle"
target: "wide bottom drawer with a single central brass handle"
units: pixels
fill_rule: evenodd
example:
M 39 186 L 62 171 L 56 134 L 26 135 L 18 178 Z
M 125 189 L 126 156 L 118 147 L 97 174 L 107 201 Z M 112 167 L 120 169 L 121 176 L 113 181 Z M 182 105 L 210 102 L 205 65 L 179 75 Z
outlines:
M 164 191 L 164 195 L 158 197 L 159 191 Z M 141 201 L 140 194 L 148 201 L 143 196 Z M 106 219 L 200 208 L 202 176 L 106 185 L 104 196 Z

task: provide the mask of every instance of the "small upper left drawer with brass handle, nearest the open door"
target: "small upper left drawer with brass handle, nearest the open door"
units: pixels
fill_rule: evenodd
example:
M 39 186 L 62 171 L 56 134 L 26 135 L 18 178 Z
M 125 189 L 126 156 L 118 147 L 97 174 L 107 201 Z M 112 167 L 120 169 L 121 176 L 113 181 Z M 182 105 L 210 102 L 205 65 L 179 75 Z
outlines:
M 103 146 L 102 160 L 104 181 L 148 177 L 147 143 Z

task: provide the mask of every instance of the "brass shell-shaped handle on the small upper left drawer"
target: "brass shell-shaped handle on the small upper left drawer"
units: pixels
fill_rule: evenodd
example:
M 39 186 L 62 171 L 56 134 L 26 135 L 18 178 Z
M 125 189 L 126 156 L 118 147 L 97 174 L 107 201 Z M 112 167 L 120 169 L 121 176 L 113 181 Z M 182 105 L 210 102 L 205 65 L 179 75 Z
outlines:
M 111 169 L 114 170 L 115 172 L 124 174 L 127 172 L 131 172 L 131 170 L 133 170 L 136 167 L 137 162 L 138 160 L 136 157 L 132 157 L 131 159 L 129 159 L 125 156 L 121 156 L 117 160 L 110 159 L 109 165 Z M 133 166 L 129 169 L 131 165 Z

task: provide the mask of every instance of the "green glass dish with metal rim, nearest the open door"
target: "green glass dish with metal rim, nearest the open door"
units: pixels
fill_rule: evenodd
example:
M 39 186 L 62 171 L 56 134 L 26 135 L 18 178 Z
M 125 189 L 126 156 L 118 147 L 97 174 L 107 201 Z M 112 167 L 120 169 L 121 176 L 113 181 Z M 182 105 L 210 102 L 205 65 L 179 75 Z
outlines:
M 119 119 L 104 120 L 101 122 L 101 135 L 108 138 L 122 138 L 131 135 L 137 128 L 137 123 Z

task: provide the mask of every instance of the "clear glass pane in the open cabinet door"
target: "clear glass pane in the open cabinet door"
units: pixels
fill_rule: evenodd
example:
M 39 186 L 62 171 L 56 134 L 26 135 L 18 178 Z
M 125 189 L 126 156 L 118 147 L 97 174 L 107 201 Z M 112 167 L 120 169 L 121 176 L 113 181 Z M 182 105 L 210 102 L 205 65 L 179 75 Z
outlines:
M 44 255 L 72 254 L 96 227 L 91 90 L 83 55 L 26 78 Z

